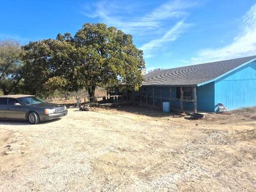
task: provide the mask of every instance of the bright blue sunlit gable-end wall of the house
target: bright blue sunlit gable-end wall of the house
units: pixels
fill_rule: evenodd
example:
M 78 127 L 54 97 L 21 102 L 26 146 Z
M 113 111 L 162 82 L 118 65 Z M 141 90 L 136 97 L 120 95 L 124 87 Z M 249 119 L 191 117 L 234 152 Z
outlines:
M 215 110 L 222 103 L 227 110 L 256 106 L 256 62 L 215 81 Z

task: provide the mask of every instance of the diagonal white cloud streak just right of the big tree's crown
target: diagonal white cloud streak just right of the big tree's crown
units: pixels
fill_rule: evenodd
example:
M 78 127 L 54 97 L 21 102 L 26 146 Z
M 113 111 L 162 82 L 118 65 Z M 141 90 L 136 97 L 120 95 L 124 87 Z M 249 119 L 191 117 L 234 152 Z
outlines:
M 144 52 L 145 58 L 154 57 L 153 51 L 159 49 L 163 44 L 175 41 L 181 34 L 191 26 L 183 20 L 177 22 L 169 31 L 167 31 L 161 38 L 153 39 L 148 43 L 143 44 L 140 49 Z

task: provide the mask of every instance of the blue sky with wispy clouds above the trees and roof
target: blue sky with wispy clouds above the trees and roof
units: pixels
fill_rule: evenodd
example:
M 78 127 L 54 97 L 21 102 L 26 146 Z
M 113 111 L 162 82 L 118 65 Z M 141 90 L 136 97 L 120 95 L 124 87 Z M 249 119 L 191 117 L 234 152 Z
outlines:
M 147 70 L 256 55 L 256 1 L 0 1 L 0 39 L 21 44 L 103 22 L 133 35 Z

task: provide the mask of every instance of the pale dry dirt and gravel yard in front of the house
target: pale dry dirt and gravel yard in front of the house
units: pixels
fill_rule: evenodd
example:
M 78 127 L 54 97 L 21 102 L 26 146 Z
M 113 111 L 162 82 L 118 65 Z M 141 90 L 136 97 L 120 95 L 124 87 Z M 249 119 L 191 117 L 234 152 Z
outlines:
M 0 122 L 0 191 L 255 191 L 256 108 L 173 117 L 143 107 L 69 109 Z

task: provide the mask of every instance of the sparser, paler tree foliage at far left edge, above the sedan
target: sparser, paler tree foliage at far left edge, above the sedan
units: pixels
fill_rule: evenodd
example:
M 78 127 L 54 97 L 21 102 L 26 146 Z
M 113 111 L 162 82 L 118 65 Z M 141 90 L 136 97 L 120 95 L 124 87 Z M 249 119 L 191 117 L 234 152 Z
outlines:
M 0 89 L 4 94 L 19 90 L 22 62 L 21 49 L 13 40 L 0 41 Z

